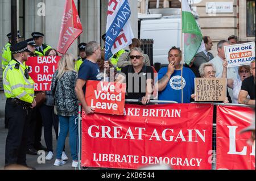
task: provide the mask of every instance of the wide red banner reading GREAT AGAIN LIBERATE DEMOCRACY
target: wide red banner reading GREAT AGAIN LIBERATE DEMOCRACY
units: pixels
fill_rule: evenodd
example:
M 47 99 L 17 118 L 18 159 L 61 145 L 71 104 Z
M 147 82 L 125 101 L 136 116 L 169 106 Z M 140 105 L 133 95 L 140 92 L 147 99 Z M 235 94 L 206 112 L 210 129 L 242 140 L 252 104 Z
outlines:
M 213 106 L 125 106 L 125 115 L 82 115 L 81 166 L 211 169 Z

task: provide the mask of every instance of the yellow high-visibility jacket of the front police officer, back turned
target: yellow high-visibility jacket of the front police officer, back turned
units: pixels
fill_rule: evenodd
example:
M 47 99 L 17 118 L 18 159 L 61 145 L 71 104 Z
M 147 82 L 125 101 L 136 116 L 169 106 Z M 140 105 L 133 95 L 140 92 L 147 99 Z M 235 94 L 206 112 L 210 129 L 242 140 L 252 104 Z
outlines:
M 18 98 L 27 103 L 32 103 L 35 97 L 34 81 L 30 76 L 25 76 L 26 66 L 11 60 L 3 71 L 3 90 L 6 98 Z

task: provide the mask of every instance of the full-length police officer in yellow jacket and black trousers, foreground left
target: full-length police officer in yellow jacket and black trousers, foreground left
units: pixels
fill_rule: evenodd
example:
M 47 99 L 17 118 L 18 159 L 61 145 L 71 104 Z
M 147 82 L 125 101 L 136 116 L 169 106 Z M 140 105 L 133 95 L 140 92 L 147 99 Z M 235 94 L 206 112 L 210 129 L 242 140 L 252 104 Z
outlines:
M 34 99 L 34 81 L 23 65 L 27 61 L 27 42 L 22 41 L 11 46 L 13 60 L 3 71 L 3 89 L 5 91 L 5 114 L 9 120 L 9 132 L 6 138 L 5 165 L 26 164 L 28 119 L 31 109 L 36 106 Z

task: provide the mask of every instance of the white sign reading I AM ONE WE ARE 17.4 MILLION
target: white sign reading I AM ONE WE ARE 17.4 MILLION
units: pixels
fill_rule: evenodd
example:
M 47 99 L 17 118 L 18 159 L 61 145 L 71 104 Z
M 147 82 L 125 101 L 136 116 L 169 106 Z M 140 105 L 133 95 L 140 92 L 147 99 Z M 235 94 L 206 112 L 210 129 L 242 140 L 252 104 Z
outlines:
M 255 60 L 255 42 L 228 45 L 224 47 L 228 67 L 249 65 Z

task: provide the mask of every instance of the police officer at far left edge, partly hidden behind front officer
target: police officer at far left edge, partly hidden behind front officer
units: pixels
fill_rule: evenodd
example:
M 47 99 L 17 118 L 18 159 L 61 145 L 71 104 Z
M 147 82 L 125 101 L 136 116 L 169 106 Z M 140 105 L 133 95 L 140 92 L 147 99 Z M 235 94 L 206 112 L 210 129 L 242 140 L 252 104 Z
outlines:
M 9 64 L 9 62 L 11 61 L 11 33 L 8 33 L 6 35 L 8 37 L 8 43 L 5 45 L 5 47 L 3 47 L 2 49 L 2 69 L 5 69 L 5 67 Z M 18 39 L 21 38 L 19 31 L 17 33 Z

